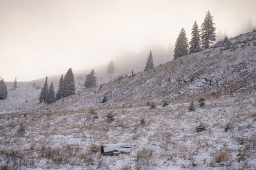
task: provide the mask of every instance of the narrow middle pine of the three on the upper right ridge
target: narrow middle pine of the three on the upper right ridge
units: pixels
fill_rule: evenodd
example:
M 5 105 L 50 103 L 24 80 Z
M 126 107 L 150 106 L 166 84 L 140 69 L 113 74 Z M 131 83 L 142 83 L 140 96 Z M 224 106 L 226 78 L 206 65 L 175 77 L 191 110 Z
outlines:
M 200 51 L 200 33 L 196 21 L 192 28 L 191 40 L 189 42 L 189 45 L 189 53 L 195 53 Z

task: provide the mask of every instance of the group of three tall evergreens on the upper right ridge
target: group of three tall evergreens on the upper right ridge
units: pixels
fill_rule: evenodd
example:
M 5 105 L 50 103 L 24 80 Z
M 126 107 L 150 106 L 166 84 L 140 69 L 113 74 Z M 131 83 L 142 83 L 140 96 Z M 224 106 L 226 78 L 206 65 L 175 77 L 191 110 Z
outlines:
M 175 42 L 174 59 L 178 59 L 188 53 L 200 52 L 202 49 L 209 48 L 210 44 L 216 40 L 216 27 L 214 27 L 213 17 L 207 11 L 201 29 L 198 29 L 196 21 L 192 27 L 191 40 L 186 37 L 186 31 L 181 29 L 179 36 Z

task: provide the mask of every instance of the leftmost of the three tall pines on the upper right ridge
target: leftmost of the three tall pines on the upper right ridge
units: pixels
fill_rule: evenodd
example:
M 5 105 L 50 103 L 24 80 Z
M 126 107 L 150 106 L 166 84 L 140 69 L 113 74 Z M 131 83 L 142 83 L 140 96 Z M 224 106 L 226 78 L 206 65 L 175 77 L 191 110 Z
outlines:
M 174 49 L 174 59 L 178 59 L 179 57 L 188 54 L 188 38 L 186 36 L 186 31 L 184 28 L 181 29 L 179 37 L 175 42 Z

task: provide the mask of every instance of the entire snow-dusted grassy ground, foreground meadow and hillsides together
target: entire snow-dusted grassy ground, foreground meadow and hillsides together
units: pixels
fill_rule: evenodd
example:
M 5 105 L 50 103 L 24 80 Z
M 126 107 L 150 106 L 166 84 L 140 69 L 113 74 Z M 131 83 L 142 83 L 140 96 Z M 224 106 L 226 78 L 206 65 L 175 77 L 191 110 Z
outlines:
M 43 82 L 18 83 L 17 90 L 9 84 L 8 98 L 0 101 L 0 166 L 255 169 L 255 36 L 250 32 L 230 39 L 230 47 L 218 43 L 91 89 L 76 78 L 76 94 L 49 105 L 38 103 L 36 85 Z M 191 102 L 195 111 L 189 111 Z M 101 154 L 100 146 L 115 143 L 131 146 L 130 153 Z

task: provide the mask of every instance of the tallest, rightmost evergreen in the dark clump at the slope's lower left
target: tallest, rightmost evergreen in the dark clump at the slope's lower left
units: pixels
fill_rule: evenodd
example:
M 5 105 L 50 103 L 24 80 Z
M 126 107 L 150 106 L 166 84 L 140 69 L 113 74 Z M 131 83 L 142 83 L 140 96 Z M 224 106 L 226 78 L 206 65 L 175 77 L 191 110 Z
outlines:
M 76 86 L 75 79 L 72 69 L 68 69 L 67 73 L 64 76 L 64 88 L 63 88 L 63 97 L 70 96 L 75 94 Z

